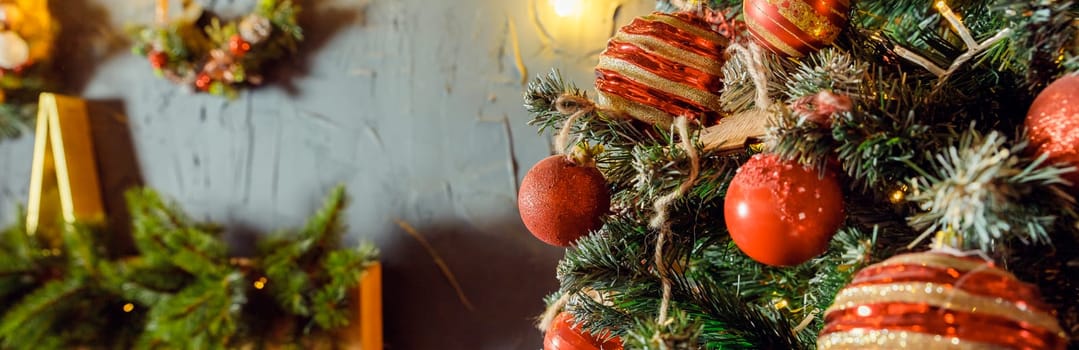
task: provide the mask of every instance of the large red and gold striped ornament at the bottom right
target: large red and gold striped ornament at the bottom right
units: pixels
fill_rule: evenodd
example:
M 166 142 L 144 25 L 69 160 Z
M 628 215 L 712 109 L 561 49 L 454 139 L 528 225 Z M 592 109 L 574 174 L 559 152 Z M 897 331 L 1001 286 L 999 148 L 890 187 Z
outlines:
M 898 255 L 859 271 L 824 313 L 817 349 L 1065 349 L 1038 288 L 985 260 Z

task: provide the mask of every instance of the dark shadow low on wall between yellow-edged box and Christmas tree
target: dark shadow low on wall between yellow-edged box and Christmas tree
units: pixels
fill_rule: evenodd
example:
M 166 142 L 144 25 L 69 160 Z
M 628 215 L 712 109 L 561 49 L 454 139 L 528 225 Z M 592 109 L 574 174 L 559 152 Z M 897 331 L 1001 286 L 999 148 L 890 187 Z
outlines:
M 386 349 L 540 349 L 533 324 L 543 297 L 558 288 L 562 248 L 548 246 L 519 218 L 480 231 L 463 221 L 415 225 L 475 305 L 469 311 L 424 247 L 400 229 L 387 232 L 383 257 Z

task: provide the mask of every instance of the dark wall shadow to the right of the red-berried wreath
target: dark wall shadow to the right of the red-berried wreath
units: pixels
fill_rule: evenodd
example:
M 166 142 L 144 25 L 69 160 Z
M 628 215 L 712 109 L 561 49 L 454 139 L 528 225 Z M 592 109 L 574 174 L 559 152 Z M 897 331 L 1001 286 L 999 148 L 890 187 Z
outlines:
M 367 1 L 356 6 L 334 6 L 319 0 L 295 0 L 302 11 L 297 18 L 303 26 L 303 42 L 295 55 L 265 71 L 265 85 L 281 86 L 289 95 L 298 96 L 300 89 L 293 80 L 311 71 L 312 55 L 329 43 L 339 31 L 349 26 L 367 24 Z

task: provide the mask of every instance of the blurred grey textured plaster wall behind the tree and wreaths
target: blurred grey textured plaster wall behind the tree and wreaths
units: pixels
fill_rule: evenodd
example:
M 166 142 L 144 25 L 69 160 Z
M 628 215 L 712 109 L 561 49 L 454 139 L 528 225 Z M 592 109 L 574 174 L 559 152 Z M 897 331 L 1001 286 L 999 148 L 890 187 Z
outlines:
M 550 149 L 525 124 L 522 78 L 559 67 L 589 86 L 611 31 L 652 1 L 583 1 L 587 14 L 559 18 L 547 0 L 306 0 L 303 52 L 231 102 L 179 91 L 128 52 L 123 28 L 151 21 L 153 2 L 51 1 L 59 91 L 92 103 L 113 224 L 120 191 L 144 184 L 226 224 L 243 254 L 345 184 L 349 239 L 383 253 L 387 349 L 541 347 L 531 318 L 557 288 L 562 250 L 534 240 L 516 208 L 518 183 Z M 254 2 L 205 3 L 230 15 Z M 31 149 L 30 136 L 0 144 L 5 225 L 26 201 Z M 395 219 L 431 241 L 474 311 Z

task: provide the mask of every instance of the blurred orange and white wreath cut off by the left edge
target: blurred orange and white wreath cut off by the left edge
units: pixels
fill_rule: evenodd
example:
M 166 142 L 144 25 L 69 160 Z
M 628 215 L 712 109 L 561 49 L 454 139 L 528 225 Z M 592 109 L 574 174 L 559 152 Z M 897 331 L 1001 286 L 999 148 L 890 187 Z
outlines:
M 0 138 L 33 118 L 56 29 L 46 1 L 0 0 Z

